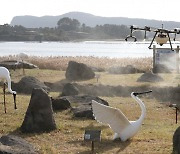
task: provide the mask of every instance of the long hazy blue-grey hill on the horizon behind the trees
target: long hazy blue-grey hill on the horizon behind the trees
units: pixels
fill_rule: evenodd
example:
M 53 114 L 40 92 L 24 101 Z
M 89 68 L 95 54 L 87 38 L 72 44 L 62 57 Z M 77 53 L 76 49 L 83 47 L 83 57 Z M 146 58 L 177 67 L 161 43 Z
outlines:
M 79 22 L 85 23 L 86 26 L 94 27 L 96 25 L 104 24 L 116 24 L 116 25 L 138 25 L 138 26 L 151 26 L 151 27 L 161 27 L 164 24 L 164 28 L 173 29 L 180 27 L 180 22 L 175 21 L 159 21 L 159 20 L 149 20 L 140 18 L 125 18 L 125 17 L 101 17 L 95 16 L 83 12 L 69 12 L 59 16 L 15 16 L 11 25 L 22 25 L 27 28 L 39 28 L 39 27 L 56 27 L 58 20 L 64 17 L 69 17 L 79 20 Z

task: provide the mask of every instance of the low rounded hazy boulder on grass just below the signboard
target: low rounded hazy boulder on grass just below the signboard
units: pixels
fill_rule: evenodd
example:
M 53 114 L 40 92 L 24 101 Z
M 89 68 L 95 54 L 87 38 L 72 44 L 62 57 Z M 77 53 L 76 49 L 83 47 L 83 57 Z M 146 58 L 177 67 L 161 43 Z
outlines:
M 144 73 L 137 79 L 137 82 L 160 82 L 163 81 L 159 75 L 154 74 L 152 72 Z

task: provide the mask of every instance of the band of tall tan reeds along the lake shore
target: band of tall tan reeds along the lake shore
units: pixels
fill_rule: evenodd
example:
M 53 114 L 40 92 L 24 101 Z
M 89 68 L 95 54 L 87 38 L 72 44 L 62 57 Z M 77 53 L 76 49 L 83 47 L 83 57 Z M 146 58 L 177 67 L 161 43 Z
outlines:
M 3 60 L 19 60 L 16 56 L 0 57 Z M 98 57 L 35 57 L 29 56 L 24 59 L 30 63 L 37 65 L 40 69 L 66 70 L 68 62 L 73 60 L 84 63 L 92 67 L 109 69 L 112 66 L 133 65 L 141 70 L 151 70 L 152 58 L 98 58 Z

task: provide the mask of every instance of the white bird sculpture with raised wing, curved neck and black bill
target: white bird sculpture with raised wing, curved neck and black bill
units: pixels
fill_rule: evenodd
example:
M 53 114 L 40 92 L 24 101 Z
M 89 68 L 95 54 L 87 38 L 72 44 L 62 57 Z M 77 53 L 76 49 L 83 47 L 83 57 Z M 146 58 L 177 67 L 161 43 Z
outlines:
M 126 141 L 138 132 L 146 115 L 146 107 L 139 99 L 138 95 L 149 92 L 152 91 L 131 93 L 131 97 L 138 102 L 142 110 L 141 116 L 136 121 L 129 121 L 120 109 L 109 107 L 92 100 L 94 117 L 98 122 L 108 124 L 111 127 L 111 129 L 115 132 L 114 139 L 120 138 L 121 141 Z

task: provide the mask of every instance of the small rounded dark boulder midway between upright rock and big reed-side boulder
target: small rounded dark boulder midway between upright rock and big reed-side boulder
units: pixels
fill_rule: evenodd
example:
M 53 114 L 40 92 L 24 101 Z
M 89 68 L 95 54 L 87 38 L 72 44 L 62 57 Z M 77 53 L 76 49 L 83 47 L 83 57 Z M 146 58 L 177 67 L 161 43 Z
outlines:
M 78 95 L 79 90 L 72 83 L 67 83 L 64 85 L 61 96 L 71 96 Z

